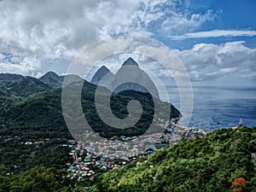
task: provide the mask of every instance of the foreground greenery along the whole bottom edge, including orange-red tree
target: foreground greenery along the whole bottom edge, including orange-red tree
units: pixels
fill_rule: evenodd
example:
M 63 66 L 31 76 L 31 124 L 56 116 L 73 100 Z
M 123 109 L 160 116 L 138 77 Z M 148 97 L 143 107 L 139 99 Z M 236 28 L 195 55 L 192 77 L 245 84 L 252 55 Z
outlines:
M 221 129 L 205 138 L 183 139 L 94 180 L 63 177 L 36 167 L 17 175 L 0 169 L 0 191 L 255 191 L 256 129 Z M 140 161 L 141 166 L 137 166 Z

